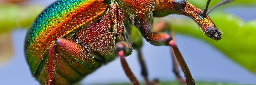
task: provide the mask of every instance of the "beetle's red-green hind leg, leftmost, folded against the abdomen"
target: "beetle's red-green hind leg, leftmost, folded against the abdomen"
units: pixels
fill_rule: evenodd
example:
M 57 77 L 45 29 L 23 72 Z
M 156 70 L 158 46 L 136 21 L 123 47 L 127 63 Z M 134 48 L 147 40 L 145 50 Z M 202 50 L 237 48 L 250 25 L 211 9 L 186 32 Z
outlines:
M 87 70 L 88 73 L 94 71 L 95 68 L 102 65 L 102 63 L 96 61 L 96 58 L 92 53 L 88 52 L 86 48 L 82 47 L 80 44 L 63 38 L 58 38 L 55 44 L 49 49 L 49 59 L 48 59 L 48 73 L 46 85 L 54 85 L 55 82 L 55 72 L 56 72 L 56 54 L 59 53 L 70 63 L 72 67 L 81 67 Z M 77 70 L 81 72 L 80 70 Z M 84 73 L 79 73 L 84 74 Z

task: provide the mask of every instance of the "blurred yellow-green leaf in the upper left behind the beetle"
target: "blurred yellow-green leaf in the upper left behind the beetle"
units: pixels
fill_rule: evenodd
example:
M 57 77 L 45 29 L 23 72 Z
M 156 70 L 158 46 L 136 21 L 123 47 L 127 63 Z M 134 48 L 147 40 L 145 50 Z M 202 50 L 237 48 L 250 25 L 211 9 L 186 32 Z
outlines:
M 0 33 L 28 28 L 42 10 L 42 6 L 0 3 Z

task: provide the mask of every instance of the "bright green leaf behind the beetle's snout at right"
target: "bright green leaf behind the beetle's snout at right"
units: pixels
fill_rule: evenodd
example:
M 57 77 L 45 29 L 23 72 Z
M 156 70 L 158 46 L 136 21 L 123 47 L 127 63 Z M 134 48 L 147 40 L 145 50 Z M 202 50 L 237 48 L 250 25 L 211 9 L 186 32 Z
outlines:
M 256 20 L 245 23 L 232 14 L 223 12 L 215 12 L 209 16 L 223 32 L 219 41 L 203 35 L 197 23 L 187 17 L 173 16 L 168 22 L 172 30 L 208 42 L 227 57 L 256 74 Z

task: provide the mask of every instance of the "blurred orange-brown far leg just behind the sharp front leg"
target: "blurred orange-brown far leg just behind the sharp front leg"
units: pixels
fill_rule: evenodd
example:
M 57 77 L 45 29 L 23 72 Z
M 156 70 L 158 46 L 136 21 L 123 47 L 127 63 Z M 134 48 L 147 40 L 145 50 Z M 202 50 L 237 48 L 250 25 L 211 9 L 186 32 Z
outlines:
M 164 21 L 164 20 L 160 20 L 157 23 L 154 23 L 152 30 L 154 32 L 161 32 L 161 31 L 167 30 L 168 33 L 171 35 L 171 37 L 173 37 L 173 41 L 175 41 L 174 40 L 174 33 L 172 31 L 169 31 L 171 29 L 168 28 L 168 25 L 167 25 L 166 21 Z M 175 74 L 176 79 L 180 83 L 185 84 L 186 83 L 185 79 L 183 79 L 180 76 L 180 71 L 179 71 L 179 65 L 178 65 L 178 62 L 177 62 L 177 58 L 175 57 L 174 51 L 173 51 L 172 48 L 171 48 L 171 52 L 172 52 L 172 55 L 171 55 L 172 56 L 172 71 Z

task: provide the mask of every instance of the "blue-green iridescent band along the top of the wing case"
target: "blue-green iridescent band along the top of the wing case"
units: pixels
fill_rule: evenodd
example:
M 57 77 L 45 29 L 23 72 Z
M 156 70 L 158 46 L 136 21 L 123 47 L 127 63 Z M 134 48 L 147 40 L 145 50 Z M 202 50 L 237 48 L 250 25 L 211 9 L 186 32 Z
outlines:
M 40 32 L 44 32 L 49 26 L 57 24 L 58 20 L 65 18 L 64 15 L 79 7 L 79 4 L 84 1 L 87 0 L 58 0 L 47 7 L 32 24 L 27 36 L 29 38 L 26 41 L 31 44 L 32 40 L 35 40 L 35 37 L 38 37 Z

